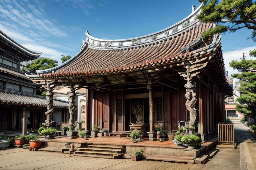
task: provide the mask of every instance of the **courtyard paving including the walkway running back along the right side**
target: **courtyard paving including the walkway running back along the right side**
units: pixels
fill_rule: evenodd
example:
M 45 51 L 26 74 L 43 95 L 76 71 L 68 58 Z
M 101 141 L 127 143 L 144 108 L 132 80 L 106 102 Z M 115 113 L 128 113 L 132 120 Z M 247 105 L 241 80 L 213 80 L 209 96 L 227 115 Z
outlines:
M 237 149 L 220 149 L 205 165 L 145 159 L 103 159 L 10 148 L 0 150 L 0 170 L 253 170 L 256 167 L 254 136 L 244 124 L 236 124 L 235 139 Z

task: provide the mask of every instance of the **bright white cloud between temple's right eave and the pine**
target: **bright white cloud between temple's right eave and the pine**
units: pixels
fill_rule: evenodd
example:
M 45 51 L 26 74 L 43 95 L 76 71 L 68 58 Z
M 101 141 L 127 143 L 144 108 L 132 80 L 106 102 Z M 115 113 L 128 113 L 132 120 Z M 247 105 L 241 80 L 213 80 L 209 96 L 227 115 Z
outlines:
M 249 51 L 256 49 L 256 46 L 250 46 L 245 48 L 240 48 L 232 51 L 227 51 L 223 53 L 224 63 L 226 67 L 226 71 L 228 71 L 228 76 L 231 77 L 234 73 L 239 73 L 239 71 L 234 70 L 233 68 L 229 67 L 229 63 L 232 60 L 240 61 L 240 58 L 243 58 L 243 52 L 245 53 L 246 59 L 255 59 L 255 57 L 250 57 Z

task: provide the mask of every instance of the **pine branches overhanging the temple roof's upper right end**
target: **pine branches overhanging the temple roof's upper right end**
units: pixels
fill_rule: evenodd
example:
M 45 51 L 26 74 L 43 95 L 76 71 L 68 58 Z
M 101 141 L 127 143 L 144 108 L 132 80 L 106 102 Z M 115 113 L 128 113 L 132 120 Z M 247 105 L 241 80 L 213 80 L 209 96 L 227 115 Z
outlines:
M 251 38 L 256 41 L 256 2 L 253 0 L 199 0 L 203 3 L 201 13 L 196 16 L 204 23 L 217 23 L 213 29 L 202 34 L 207 40 L 214 34 L 235 32 L 242 28 L 252 30 Z M 230 26 L 228 26 L 230 24 Z

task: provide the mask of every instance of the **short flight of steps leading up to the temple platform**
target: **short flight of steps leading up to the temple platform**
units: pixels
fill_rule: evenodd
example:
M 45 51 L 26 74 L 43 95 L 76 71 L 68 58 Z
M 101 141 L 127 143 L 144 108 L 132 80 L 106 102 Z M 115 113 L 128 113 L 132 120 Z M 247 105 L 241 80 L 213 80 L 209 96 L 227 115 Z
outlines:
M 85 147 L 78 148 L 74 154 L 86 157 L 118 159 L 125 154 L 125 148 L 122 145 L 106 144 L 88 144 Z

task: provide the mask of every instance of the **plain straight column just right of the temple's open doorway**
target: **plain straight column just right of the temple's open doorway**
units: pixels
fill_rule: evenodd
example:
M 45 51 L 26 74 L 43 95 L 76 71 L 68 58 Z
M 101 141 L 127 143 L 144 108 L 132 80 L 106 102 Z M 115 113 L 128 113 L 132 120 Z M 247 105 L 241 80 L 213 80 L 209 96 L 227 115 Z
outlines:
M 153 89 L 152 84 L 148 84 L 147 88 L 149 90 L 149 140 L 157 140 L 156 133 L 154 132 L 154 112 L 153 112 Z

